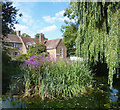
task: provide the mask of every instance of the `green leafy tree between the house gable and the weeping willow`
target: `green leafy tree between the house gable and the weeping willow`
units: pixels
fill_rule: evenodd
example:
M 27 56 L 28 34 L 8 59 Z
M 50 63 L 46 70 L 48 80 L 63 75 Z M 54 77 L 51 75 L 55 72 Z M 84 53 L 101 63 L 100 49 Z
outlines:
M 78 23 L 71 7 L 65 9 L 64 16 L 68 17 L 69 21 L 65 20 L 65 25 L 61 27 L 61 31 L 63 32 L 63 43 L 67 47 L 67 56 L 71 56 L 75 55 L 76 51 L 75 40 L 77 38 Z

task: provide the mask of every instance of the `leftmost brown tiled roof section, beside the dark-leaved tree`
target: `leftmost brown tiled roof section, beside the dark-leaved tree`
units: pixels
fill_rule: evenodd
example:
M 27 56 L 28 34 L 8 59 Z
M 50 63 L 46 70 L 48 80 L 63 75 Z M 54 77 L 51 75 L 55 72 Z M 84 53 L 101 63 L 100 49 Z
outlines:
M 11 43 L 22 43 L 21 40 L 17 35 L 8 34 L 7 37 L 3 39 L 4 42 L 11 42 Z

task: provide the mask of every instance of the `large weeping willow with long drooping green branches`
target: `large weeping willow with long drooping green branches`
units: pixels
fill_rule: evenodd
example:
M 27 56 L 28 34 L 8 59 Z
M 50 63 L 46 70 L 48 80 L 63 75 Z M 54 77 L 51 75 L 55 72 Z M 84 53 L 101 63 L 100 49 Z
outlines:
M 76 54 L 88 61 L 106 62 L 108 83 L 113 75 L 120 75 L 120 3 L 72 2 L 72 10 L 79 16 Z

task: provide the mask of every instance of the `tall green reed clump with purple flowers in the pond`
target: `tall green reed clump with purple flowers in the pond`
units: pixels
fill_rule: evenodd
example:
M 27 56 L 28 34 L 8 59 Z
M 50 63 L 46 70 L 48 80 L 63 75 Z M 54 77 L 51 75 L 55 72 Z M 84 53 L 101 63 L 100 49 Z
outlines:
M 92 87 L 93 75 L 84 62 L 54 61 L 48 55 L 29 57 L 22 66 L 25 96 L 40 95 L 44 100 L 73 97 Z

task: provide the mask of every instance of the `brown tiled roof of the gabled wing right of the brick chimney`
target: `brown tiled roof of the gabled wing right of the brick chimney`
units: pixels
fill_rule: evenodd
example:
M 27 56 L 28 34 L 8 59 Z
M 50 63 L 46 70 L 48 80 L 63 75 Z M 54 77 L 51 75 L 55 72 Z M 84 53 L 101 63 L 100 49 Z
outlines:
M 55 49 L 62 39 L 47 40 L 46 49 Z

